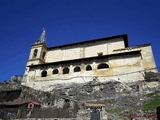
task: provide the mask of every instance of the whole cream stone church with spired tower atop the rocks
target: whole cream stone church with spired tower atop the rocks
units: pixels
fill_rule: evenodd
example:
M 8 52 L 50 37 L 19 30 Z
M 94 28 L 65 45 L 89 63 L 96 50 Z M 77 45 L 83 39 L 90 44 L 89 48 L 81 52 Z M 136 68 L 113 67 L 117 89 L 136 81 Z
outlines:
M 144 80 L 157 72 L 151 44 L 129 46 L 127 34 L 47 47 L 46 30 L 31 45 L 22 85 L 41 89 L 47 85 L 115 80 Z

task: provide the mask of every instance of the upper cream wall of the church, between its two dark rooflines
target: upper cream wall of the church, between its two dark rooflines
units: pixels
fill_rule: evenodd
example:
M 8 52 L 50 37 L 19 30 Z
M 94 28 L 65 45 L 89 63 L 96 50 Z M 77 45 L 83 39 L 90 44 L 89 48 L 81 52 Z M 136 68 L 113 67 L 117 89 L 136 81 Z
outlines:
M 98 53 L 108 55 L 112 54 L 114 49 L 124 47 L 122 38 L 58 47 L 47 52 L 45 62 L 49 63 L 98 56 Z

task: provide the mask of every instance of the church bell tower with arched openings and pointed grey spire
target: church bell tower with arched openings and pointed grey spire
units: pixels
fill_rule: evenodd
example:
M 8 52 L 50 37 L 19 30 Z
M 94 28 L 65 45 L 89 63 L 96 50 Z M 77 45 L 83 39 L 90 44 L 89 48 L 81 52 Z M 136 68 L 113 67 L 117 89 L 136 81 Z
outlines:
M 45 55 L 47 53 L 46 46 L 46 29 L 43 29 L 43 32 L 35 44 L 32 45 L 29 59 L 27 61 L 28 65 L 38 65 L 45 63 Z

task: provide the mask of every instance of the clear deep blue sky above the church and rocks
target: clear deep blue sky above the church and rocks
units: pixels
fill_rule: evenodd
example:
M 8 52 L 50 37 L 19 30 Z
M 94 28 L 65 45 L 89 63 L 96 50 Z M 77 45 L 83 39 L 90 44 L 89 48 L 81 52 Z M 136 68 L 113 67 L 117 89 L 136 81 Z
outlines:
M 0 0 L 0 81 L 23 75 L 44 26 L 48 47 L 126 33 L 160 66 L 160 0 Z

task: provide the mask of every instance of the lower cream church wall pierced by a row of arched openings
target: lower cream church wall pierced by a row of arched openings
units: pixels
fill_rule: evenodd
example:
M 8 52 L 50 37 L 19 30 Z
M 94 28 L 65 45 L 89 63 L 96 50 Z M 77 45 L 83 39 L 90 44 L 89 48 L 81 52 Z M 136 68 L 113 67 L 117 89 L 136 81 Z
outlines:
M 41 89 L 41 87 L 49 84 L 85 83 L 92 81 L 95 76 L 99 82 L 143 80 L 145 71 L 141 71 L 143 70 L 141 62 L 140 55 L 134 54 L 68 64 L 31 67 L 28 75 L 23 78 L 23 85 Z M 101 64 L 106 64 L 108 67 L 98 69 Z M 86 70 L 88 65 L 91 66 L 91 70 Z M 65 67 L 69 69 L 68 74 L 63 74 L 63 68 Z M 80 71 L 74 72 L 75 67 L 80 67 Z M 55 69 L 58 70 L 57 74 L 53 74 Z M 41 77 L 43 71 L 47 72 L 46 77 Z

